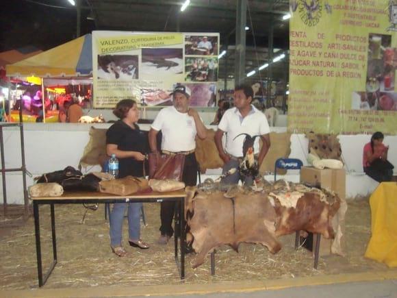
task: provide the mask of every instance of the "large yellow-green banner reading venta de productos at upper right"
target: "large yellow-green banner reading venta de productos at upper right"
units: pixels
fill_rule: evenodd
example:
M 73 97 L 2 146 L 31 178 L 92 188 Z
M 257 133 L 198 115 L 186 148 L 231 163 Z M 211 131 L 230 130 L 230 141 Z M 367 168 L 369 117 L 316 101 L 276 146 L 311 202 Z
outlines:
M 290 2 L 290 132 L 397 134 L 393 2 Z

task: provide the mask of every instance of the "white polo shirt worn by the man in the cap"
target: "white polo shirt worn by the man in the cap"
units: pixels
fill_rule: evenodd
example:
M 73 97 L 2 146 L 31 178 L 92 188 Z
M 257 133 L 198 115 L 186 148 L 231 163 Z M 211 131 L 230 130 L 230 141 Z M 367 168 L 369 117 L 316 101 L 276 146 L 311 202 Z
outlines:
M 162 131 L 162 150 L 171 152 L 196 149 L 196 123 L 188 113 L 180 113 L 172 105 L 160 110 L 151 127 Z

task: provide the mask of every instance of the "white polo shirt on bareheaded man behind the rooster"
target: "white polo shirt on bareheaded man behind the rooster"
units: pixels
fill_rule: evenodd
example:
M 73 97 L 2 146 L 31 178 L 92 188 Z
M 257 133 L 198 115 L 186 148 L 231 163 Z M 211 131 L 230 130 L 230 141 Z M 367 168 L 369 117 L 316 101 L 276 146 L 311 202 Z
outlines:
M 242 135 L 233 140 L 235 136 L 239 134 L 261 136 L 270 132 L 265 114 L 253 105 L 251 105 L 251 112 L 244 118 L 238 108 L 227 110 L 220 120 L 218 129 L 227 133 L 225 151 L 238 158 L 243 156 L 242 145 L 246 136 Z M 259 153 L 259 137 L 255 138 L 254 152 Z

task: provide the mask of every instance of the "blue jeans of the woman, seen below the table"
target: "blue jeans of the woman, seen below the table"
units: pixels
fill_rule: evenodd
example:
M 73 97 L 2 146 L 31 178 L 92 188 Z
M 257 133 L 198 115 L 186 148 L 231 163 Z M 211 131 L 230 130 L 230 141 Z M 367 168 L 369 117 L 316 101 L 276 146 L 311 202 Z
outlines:
M 123 235 L 124 211 L 128 206 L 128 234 L 129 239 L 140 239 L 140 210 L 142 203 L 114 203 L 110 213 L 110 245 L 121 246 Z

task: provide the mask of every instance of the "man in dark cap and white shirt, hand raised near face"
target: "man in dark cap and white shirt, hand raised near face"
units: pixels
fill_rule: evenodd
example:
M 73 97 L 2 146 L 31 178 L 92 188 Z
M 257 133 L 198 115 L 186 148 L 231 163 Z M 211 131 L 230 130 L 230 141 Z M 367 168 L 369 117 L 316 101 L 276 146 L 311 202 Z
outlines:
M 186 186 L 195 186 L 197 183 L 197 161 L 194 154 L 196 135 L 199 138 L 207 136 L 207 129 L 201 121 L 199 113 L 189 108 L 191 91 L 187 86 L 177 85 L 172 92 L 173 105 L 160 110 L 149 131 L 149 145 L 152 152 L 157 151 L 157 134 L 162 131 L 162 153 L 185 154 L 182 181 Z M 175 202 L 162 202 L 160 208 L 161 236 L 160 244 L 168 243 L 174 233 L 172 218 Z

